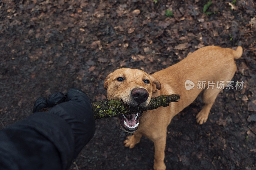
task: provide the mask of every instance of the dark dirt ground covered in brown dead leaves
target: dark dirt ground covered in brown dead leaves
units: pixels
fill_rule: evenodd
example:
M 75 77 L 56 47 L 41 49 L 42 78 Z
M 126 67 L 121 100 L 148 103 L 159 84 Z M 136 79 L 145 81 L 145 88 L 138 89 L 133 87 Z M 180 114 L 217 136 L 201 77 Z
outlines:
M 210 15 L 203 13 L 207 2 L 1 0 L 1 129 L 30 115 L 39 96 L 78 87 L 92 101 L 105 99 L 104 78 L 117 68 L 151 74 L 207 45 L 241 45 L 233 80 L 244 81 L 243 89 L 223 90 L 203 125 L 195 121 L 199 97 L 175 116 L 165 164 L 256 169 L 256 2 L 212 0 Z M 153 142 L 143 137 L 128 149 L 127 135 L 117 118 L 97 120 L 94 137 L 70 169 L 152 169 Z

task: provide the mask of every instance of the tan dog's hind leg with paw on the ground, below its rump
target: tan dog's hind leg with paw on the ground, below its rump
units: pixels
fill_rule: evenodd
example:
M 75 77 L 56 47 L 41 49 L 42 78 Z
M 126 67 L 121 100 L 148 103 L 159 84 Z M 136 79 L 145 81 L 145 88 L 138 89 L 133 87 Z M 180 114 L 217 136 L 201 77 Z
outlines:
M 216 87 L 214 87 L 214 89 L 209 88 L 204 90 L 202 99 L 205 105 L 202 110 L 196 115 L 197 123 L 203 124 L 207 121 L 212 105 L 220 91 L 221 89 L 216 89 Z

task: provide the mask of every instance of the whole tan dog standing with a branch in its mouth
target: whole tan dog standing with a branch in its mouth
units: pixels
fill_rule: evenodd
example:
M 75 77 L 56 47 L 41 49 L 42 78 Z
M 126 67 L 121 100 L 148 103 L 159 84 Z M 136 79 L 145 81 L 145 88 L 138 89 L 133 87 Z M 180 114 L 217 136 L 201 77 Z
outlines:
M 196 122 L 206 122 L 214 100 L 221 91 L 217 82 L 230 81 L 236 72 L 234 59 L 241 57 L 242 47 L 236 50 L 207 46 L 188 55 L 184 60 L 153 75 L 141 70 L 118 69 L 110 73 L 105 79 L 104 88 L 107 89 L 108 100 L 122 100 L 127 105 L 146 107 L 151 97 L 164 94 L 180 94 L 180 101 L 172 102 L 169 107 L 159 107 L 142 113 L 120 116 L 121 127 L 127 132 L 134 132 L 124 141 L 126 147 L 133 148 L 140 142 L 143 135 L 154 142 L 154 169 L 165 169 L 164 149 L 167 126 L 173 116 L 192 103 L 203 91 L 202 99 L 205 103 L 196 115 Z M 190 80 L 189 83 L 186 81 Z M 206 82 L 205 88 L 186 90 L 193 82 Z M 215 83 L 215 84 L 209 84 Z M 226 86 L 225 84 L 224 86 Z M 208 89 L 207 89 L 208 88 Z M 223 89 L 223 88 L 222 88 Z

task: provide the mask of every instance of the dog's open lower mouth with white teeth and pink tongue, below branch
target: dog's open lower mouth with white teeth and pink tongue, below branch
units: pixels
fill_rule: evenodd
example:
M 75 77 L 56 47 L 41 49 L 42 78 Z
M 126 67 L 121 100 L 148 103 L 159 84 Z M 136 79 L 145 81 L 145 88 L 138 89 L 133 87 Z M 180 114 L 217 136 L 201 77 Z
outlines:
M 135 114 L 123 114 L 119 116 L 121 127 L 131 133 L 135 132 L 138 129 L 139 118 L 142 115 L 142 112 L 137 112 Z

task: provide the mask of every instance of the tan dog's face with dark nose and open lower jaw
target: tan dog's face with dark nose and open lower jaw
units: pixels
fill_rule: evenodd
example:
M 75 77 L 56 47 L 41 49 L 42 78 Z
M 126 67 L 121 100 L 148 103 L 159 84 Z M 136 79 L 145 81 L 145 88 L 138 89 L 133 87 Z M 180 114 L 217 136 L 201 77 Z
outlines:
M 152 94 L 160 90 L 160 82 L 136 69 L 117 69 L 105 79 L 108 100 L 121 100 L 126 105 L 147 107 Z M 141 113 L 119 116 L 121 127 L 127 132 L 137 130 Z

